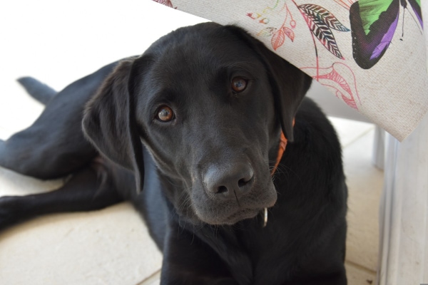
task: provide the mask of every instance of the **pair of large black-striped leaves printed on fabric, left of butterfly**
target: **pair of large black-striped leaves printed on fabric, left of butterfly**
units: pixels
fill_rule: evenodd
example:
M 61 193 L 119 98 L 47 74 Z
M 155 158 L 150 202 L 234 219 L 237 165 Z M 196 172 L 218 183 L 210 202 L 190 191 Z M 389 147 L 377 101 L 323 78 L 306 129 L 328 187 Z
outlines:
M 337 31 L 350 31 L 343 26 L 336 17 L 321 6 L 304 4 L 297 6 L 303 18 L 306 21 L 310 31 L 317 37 L 317 39 L 325 46 L 330 53 L 337 56 L 337 58 L 345 59 L 340 53 L 337 46 L 335 36 L 330 28 Z

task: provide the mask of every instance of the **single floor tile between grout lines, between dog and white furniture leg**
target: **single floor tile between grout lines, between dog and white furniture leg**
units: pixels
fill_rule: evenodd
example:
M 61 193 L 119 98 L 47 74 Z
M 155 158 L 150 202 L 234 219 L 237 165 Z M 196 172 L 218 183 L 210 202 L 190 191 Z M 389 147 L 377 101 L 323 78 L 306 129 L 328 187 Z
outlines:
M 383 172 L 372 165 L 374 131 L 343 150 L 349 190 L 347 260 L 377 270 L 379 197 Z

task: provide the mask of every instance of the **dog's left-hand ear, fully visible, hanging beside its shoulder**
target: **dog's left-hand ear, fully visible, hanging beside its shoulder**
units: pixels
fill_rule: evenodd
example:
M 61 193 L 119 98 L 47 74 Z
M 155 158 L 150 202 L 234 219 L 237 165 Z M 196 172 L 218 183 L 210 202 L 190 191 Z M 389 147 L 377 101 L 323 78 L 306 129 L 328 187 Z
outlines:
M 118 63 L 83 115 L 83 133 L 96 149 L 118 165 L 133 171 L 137 192 L 143 189 L 143 148 L 138 136 L 133 97 L 128 82 L 135 58 Z

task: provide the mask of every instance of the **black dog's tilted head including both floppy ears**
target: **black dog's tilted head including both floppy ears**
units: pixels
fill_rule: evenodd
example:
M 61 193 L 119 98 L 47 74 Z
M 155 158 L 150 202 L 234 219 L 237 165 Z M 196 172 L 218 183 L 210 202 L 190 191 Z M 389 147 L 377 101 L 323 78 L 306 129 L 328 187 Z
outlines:
M 272 207 L 281 130 L 311 79 L 235 26 L 180 28 L 119 63 L 88 103 L 83 129 L 136 175 L 143 147 L 168 177 L 165 195 L 194 223 L 234 224 Z

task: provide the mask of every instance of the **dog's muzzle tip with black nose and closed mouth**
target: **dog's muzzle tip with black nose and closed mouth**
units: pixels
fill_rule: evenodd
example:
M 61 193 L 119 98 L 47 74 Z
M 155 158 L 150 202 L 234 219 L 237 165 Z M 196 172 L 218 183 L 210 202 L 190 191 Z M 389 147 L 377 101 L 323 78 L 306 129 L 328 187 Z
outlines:
M 244 161 L 244 162 L 243 162 Z M 204 171 L 195 168 L 192 180 L 186 180 L 185 195 L 175 199 L 175 209 L 193 224 L 233 225 L 255 219 L 265 208 L 273 207 L 277 191 L 268 167 L 238 160 Z M 253 166 L 255 165 L 255 166 Z M 263 220 L 260 217 L 260 220 Z

